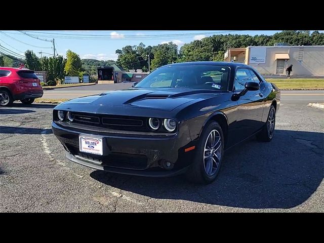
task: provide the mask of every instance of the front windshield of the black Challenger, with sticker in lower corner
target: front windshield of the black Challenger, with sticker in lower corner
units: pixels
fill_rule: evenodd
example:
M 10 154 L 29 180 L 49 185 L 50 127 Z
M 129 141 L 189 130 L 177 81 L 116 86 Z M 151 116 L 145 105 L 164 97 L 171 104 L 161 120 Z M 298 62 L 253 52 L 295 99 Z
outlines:
M 136 88 L 188 88 L 227 91 L 229 67 L 175 65 L 161 67 L 139 82 Z

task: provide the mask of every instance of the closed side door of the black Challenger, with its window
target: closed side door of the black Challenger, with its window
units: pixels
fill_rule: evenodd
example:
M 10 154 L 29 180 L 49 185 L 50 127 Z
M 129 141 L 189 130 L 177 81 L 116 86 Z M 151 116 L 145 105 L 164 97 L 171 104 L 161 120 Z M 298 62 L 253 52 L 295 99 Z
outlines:
M 260 83 L 260 80 L 251 69 L 237 68 L 234 77 L 233 93 L 238 94 L 244 90 L 247 82 Z M 248 91 L 237 100 L 235 130 L 239 141 L 261 129 L 264 100 L 265 98 L 261 90 Z

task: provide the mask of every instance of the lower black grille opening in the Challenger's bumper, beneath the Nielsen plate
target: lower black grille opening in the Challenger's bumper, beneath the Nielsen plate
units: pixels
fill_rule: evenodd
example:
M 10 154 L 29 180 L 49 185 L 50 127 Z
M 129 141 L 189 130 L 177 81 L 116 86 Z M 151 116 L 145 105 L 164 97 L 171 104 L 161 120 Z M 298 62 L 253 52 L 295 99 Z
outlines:
M 144 170 L 147 167 L 147 157 L 139 154 L 111 153 L 109 155 L 96 155 L 80 152 L 78 148 L 67 145 L 67 149 L 73 155 L 78 155 L 94 160 L 94 163 L 101 162 L 102 166 L 116 167 L 121 169 Z

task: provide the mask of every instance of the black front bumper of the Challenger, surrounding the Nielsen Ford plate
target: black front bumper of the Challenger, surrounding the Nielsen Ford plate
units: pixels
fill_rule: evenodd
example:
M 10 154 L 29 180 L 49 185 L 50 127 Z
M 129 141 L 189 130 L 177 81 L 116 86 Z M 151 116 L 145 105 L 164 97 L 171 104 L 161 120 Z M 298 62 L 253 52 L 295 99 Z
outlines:
M 193 150 L 184 153 L 184 148 L 192 146 L 189 134 L 182 131 L 171 137 L 129 136 L 124 134 L 98 133 L 64 127 L 55 122 L 52 130 L 67 150 L 66 157 L 78 164 L 97 170 L 119 174 L 167 177 L 184 173 L 190 165 Z M 103 139 L 103 155 L 93 155 L 79 151 L 79 135 Z M 187 137 L 188 136 L 188 137 Z M 186 139 L 180 139 L 185 138 Z M 172 169 L 164 169 L 169 161 Z

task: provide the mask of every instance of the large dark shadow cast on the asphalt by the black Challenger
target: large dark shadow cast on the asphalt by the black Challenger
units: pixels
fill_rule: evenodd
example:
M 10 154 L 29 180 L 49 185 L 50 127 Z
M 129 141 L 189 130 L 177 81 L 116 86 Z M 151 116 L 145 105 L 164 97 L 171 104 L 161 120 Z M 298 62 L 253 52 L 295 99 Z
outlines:
M 215 182 L 148 178 L 94 171 L 106 185 L 159 199 L 181 199 L 250 209 L 302 204 L 323 179 L 323 133 L 276 130 L 270 143 L 250 139 L 228 151 Z

